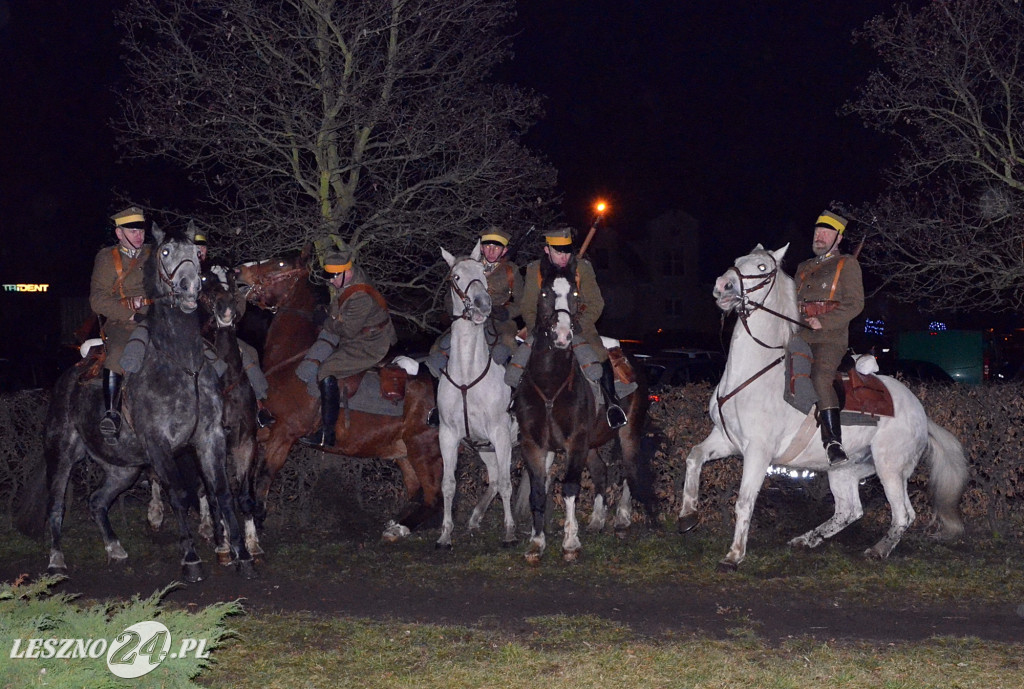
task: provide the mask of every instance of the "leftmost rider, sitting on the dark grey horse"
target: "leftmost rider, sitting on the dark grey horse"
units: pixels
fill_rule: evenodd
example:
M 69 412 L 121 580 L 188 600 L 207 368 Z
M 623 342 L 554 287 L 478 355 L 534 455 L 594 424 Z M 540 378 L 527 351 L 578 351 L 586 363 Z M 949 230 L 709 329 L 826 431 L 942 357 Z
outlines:
M 145 317 L 152 300 L 142 286 L 142 268 L 150 257 L 145 243 L 145 214 L 137 206 L 111 216 L 116 247 L 101 249 L 92 266 L 89 305 L 100 318 L 100 335 L 106 357 L 103 361 L 103 403 L 99 432 L 106 438 L 121 430 L 121 353 L 132 331 Z

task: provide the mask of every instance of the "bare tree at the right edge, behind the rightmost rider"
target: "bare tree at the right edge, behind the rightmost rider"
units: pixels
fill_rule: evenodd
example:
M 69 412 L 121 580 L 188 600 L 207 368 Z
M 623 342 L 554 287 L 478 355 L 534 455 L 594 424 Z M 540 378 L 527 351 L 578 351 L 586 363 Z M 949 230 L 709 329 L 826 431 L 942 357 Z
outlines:
M 884 67 L 846 105 L 902 143 L 889 188 L 852 212 L 889 294 L 950 309 L 1024 305 L 1024 10 L 899 5 L 855 35 Z

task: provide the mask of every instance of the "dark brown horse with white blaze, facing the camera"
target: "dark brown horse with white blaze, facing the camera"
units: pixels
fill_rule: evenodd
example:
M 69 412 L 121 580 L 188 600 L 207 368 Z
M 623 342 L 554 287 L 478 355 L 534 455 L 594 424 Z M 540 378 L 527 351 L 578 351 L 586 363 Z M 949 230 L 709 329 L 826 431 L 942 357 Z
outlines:
M 632 496 L 643 504 L 648 523 L 657 523 L 650 458 L 642 451 L 642 436 L 650 404 L 646 381 L 642 372 L 638 372 L 637 389 L 623 400 L 627 424 L 611 429 L 605 416 L 597 413 L 595 392 L 572 351 L 573 331 L 579 329 L 574 286 L 574 258 L 563 269 L 542 260 L 532 351 L 515 391 L 520 449 L 529 472 L 532 524 L 525 557 L 530 564 L 540 562 L 546 548 L 547 476 L 554 455 L 559 449 L 565 450 L 567 465 L 562 480 L 565 499 L 562 557 L 566 562 L 574 561 L 582 549 L 575 500 L 585 464 L 590 469 L 595 491 L 594 512 L 588 529 L 599 531 L 604 527 L 607 479 L 598 449 L 610 440 L 617 441 L 625 474 L 623 494 L 614 519 L 616 533 L 625 534 L 631 525 Z

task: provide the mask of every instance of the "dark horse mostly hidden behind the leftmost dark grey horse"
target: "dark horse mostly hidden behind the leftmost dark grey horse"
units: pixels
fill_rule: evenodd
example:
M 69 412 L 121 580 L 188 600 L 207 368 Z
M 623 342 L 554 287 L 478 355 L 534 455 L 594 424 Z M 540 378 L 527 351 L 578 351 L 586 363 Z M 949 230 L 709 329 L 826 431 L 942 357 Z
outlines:
M 220 377 L 224 395 L 224 432 L 227 443 L 228 478 L 236 505 L 242 513 L 245 524 L 246 548 L 253 557 L 264 554 L 259 545 L 257 521 L 262 513 L 256 509 L 253 497 L 257 469 L 256 443 L 256 393 L 246 375 L 242 354 L 239 351 L 238 321 L 243 310 L 240 300 L 245 299 L 239 292 L 234 270 L 223 265 L 213 265 L 203 273 L 203 289 L 200 304 L 207 315 L 204 332 L 209 337 L 213 333 L 211 346 L 214 353 L 226 368 Z M 159 480 L 152 481 L 153 497 L 150 501 L 147 519 L 153 530 L 159 530 L 164 520 L 162 489 Z M 199 533 L 207 541 L 213 541 L 213 518 L 210 502 L 206 493 L 200 497 Z M 219 559 L 230 552 L 228 544 L 216 546 Z

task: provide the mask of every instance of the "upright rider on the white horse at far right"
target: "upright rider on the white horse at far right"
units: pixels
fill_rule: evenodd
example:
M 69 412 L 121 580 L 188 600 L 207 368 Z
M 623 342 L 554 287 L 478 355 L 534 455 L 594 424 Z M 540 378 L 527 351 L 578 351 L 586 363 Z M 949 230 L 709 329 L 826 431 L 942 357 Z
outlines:
M 833 380 L 849 345 L 850 320 L 864 308 L 860 264 L 854 256 L 839 251 L 846 225 L 845 218 L 822 211 L 814 225 L 815 257 L 797 268 L 797 296 L 807 325 L 800 330 L 800 336 L 810 345 L 814 357 L 811 382 L 818 396 L 821 443 L 829 467 L 849 460 L 843 448 L 839 396 Z

